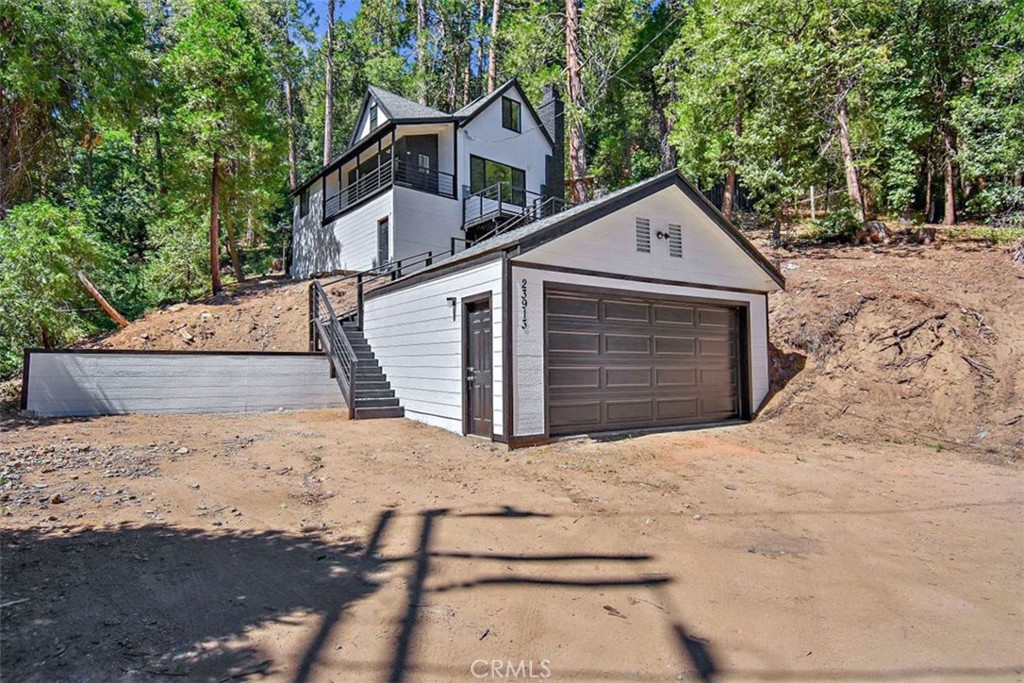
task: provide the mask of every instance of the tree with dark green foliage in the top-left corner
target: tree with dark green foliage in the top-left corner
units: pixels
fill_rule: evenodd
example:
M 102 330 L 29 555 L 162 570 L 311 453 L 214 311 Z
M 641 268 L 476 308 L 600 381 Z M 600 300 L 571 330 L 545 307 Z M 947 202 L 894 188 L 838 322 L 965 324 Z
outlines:
M 42 0 L 0 10 L 0 217 L 44 194 L 100 119 L 148 102 L 143 16 L 130 0 Z

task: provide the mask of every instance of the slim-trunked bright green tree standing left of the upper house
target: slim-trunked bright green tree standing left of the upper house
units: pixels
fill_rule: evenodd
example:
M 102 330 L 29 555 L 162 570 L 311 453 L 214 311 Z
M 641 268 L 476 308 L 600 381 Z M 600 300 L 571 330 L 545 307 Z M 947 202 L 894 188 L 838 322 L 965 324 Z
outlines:
M 267 111 L 273 78 L 259 38 L 239 0 L 197 0 L 176 27 L 167 54 L 175 93 L 174 127 L 188 140 L 184 172 L 208 169 L 210 280 L 220 291 L 222 160 L 242 161 L 251 144 L 272 146 L 280 128 Z

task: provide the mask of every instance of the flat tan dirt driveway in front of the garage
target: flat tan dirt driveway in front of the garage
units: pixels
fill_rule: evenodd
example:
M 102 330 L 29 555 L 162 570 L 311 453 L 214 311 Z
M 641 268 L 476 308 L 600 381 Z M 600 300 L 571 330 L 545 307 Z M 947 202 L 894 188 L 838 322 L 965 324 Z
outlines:
M 770 423 L 3 428 L 4 681 L 1024 676 L 1017 465 Z

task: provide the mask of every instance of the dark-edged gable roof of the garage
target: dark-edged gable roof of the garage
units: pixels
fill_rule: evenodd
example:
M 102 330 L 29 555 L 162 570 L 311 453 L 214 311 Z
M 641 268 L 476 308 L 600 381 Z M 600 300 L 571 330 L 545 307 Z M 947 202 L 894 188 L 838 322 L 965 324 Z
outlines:
M 654 193 L 672 186 L 679 187 L 683 194 L 690 199 L 694 205 L 703 212 L 705 215 L 711 218 L 711 220 L 720 229 L 722 229 L 722 231 L 724 231 L 725 234 L 751 258 L 751 260 L 757 263 L 758 266 L 760 266 L 761 269 L 764 270 L 773 282 L 775 282 L 775 284 L 782 289 L 785 289 L 785 278 L 778 270 L 778 268 L 776 268 L 772 262 L 764 256 L 764 254 L 758 251 L 757 247 L 755 247 L 735 225 L 729 222 L 729 220 L 726 219 L 726 217 L 723 216 L 721 212 L 719 212 L 719 210 L 708 201 L 700 190 L 684 178 L 678 170 L 671 170 L 659 173 L 658 175 L 652 176 L 646 180 L 642 180 L 627 187 L 623 187 L 622 189 L 616 189 L 615 191 L 609 193 L 592 202 L 579 204 L 574 207 L 566 209 L 565 211 L 548 216 L 547 218 L 542 218 L 541 220 L 537 220 L 532 223 L 509 230 L 508 232 L 496 234 L 495 237 L 475 244 L 472 247 L 455 254 L 454 256 L 449 256 L 445 259 L 437 261 L 431 266 L 417 270 L 416 272 L 406 275 L 404 278 L 400 278 L 391 285 L 385 285 L 377 290 L 374 290 L 374 294 L 384 294 L 390 288 L 399 286 L 404 281 L 411 281 L 410 284 L 414 284 L 415 282 L 439 275 L 443 270 L 446 270 L 464 261 L 472 261 L 478 258 L 482 259 L 486 255 L 501 251 L 508 251 L 514 248 L 519 248 L 521 251 L 525 251 L 534 249 L 535 247 L 540 247 L 545 243 L 551 242 L 552 240 L 556 240 L 573 230 L 589 225 L 598 218 L 607 216 L 608 214 L 618 211 L 620 209 L 624 209 L 632 204 L 635 204 L 645 197 L 649 197 Z

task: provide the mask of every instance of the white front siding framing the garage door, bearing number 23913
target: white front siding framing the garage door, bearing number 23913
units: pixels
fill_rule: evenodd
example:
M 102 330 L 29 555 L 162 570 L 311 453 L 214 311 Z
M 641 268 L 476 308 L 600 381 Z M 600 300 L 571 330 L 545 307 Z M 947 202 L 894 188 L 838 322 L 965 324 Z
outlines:
M 632 230 L 631 230 L 632 231 Z M 563 238 L 564 239 L 564 238 Z M 523 258 L 532 260 L 534 253 Z M 569 265 L 568 263 L 566 265 Z M 635 273 L 641 274 L 641 273 Z M 522 282 L 526 281 L 526 307 L 523 313 Z M 547 431 L 544 404 L 544 284 L 561 283 L 646 292 L 709 300 L 742 301 L 751 314 L 751 404 L 757 409 L 768 395 L 768 319 L 763 294 L 724 292 L 693 287 L 676 287 L 618 279 L 574 273 L 552 272 L 516 266 L 512 267 L 512 378 L 513 435 L 534 436 Z M 525 326 L 523 319 L 525 317 Z

